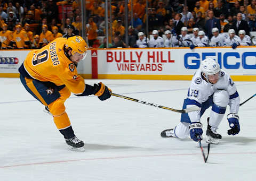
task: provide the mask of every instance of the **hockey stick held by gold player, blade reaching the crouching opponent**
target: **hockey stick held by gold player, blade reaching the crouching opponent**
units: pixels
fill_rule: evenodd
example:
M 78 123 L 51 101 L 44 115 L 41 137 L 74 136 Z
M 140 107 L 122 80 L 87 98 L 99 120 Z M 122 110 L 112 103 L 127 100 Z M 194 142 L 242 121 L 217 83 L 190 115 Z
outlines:
M 143 100 L 139 100 L 139 99 L 134 99 L 134 98 L 122 96 L 122 95 L 116 94 L 116 93 L 110 93 L 110 94 L 112 96 L 116 96 L 116 97 L 119 97 L 119 98 L 124 98 L 124 99 L 127 99 L 127 100 L 139 102 L 141 104 L 145 104 L 145 105 L 149 105 L 149 106 L 154 106 L 154 107 L 158 107 L 158 108 L 162 108 L 162 109 L 168 109 L 168 110 L 171 110 L 171 111 L 174 111 L 174 112 L 177 112 L 177 113 L 189 113 L 191 111 L 196 111 L 196 110 L 200 110 L 201 109 L 201 108 L 199 108 L 197 106 L 193 106 L 193 107 L 190 107 L 190 108 L 187 108 L 187 109 L 178 110 L 178 109 L 173 109 L 173 108 L 170 108 L 170 107 L 160 106 L 160 105 L 157 105 L 157 104 L 154 104 L 154 103 L 150 103 L 150 102 L 147 102 L 147 101 L 143 101 Z

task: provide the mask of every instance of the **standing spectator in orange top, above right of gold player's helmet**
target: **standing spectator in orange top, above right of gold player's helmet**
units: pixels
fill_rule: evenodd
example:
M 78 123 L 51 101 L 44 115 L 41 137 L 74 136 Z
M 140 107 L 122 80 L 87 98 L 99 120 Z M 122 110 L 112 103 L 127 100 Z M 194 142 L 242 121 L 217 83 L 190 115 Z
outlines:
M 88 44 L 91 47 L 93 45 L 93 41 L 95 41 L 98 37 L 98 27 L 97 25 L 93 22 L 93 18 L 90 17 L 88 20 L 88 24 L 86 24 L 86 32 L 87 32 L 87 39 L 88 39 Z

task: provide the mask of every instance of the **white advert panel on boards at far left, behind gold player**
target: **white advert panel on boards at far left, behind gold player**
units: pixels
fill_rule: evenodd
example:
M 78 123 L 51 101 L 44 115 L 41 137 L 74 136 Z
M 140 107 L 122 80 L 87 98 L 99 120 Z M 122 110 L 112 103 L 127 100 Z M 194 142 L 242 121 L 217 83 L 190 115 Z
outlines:
M 18 73 L 18 68 L 28 53 L 28 50 L 1 50 L 0 73 Z

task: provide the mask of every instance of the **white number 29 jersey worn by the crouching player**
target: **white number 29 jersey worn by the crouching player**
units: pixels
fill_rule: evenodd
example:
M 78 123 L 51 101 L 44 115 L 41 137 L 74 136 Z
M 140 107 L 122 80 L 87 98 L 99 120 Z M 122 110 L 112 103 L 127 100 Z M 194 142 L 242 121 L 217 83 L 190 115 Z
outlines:
M 219 89 L 226 90 L 229 94 L 230 113 L 238 114 L 240 98 L 236 85 L 230 76 L 222 70 L 219 80 L 215 84 L 206 82 L 202 77 L 201 70 L 197 70 L 192 78 L 187 98 L 190 100 L 195 100 L 193 101 L 193 105 L 201 107 L 202 103 L 209 99 L 209 97 Z M 192 111 L 188 113 L 188 115 L 191 122 L 199 122 L 200 110 Z

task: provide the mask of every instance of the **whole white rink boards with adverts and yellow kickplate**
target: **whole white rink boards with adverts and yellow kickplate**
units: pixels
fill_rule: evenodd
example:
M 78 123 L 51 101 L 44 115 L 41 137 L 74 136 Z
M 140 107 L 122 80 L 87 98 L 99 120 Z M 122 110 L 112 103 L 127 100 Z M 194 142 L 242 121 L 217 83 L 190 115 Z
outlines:
M 217 59 L 235 81 L 256 81 L 256 47 L 92 49 L 78 65 L 85 79 L 190 80 L 200 61 Z M 29 50 L 0 51 L 0 76 L 18 77 Z

